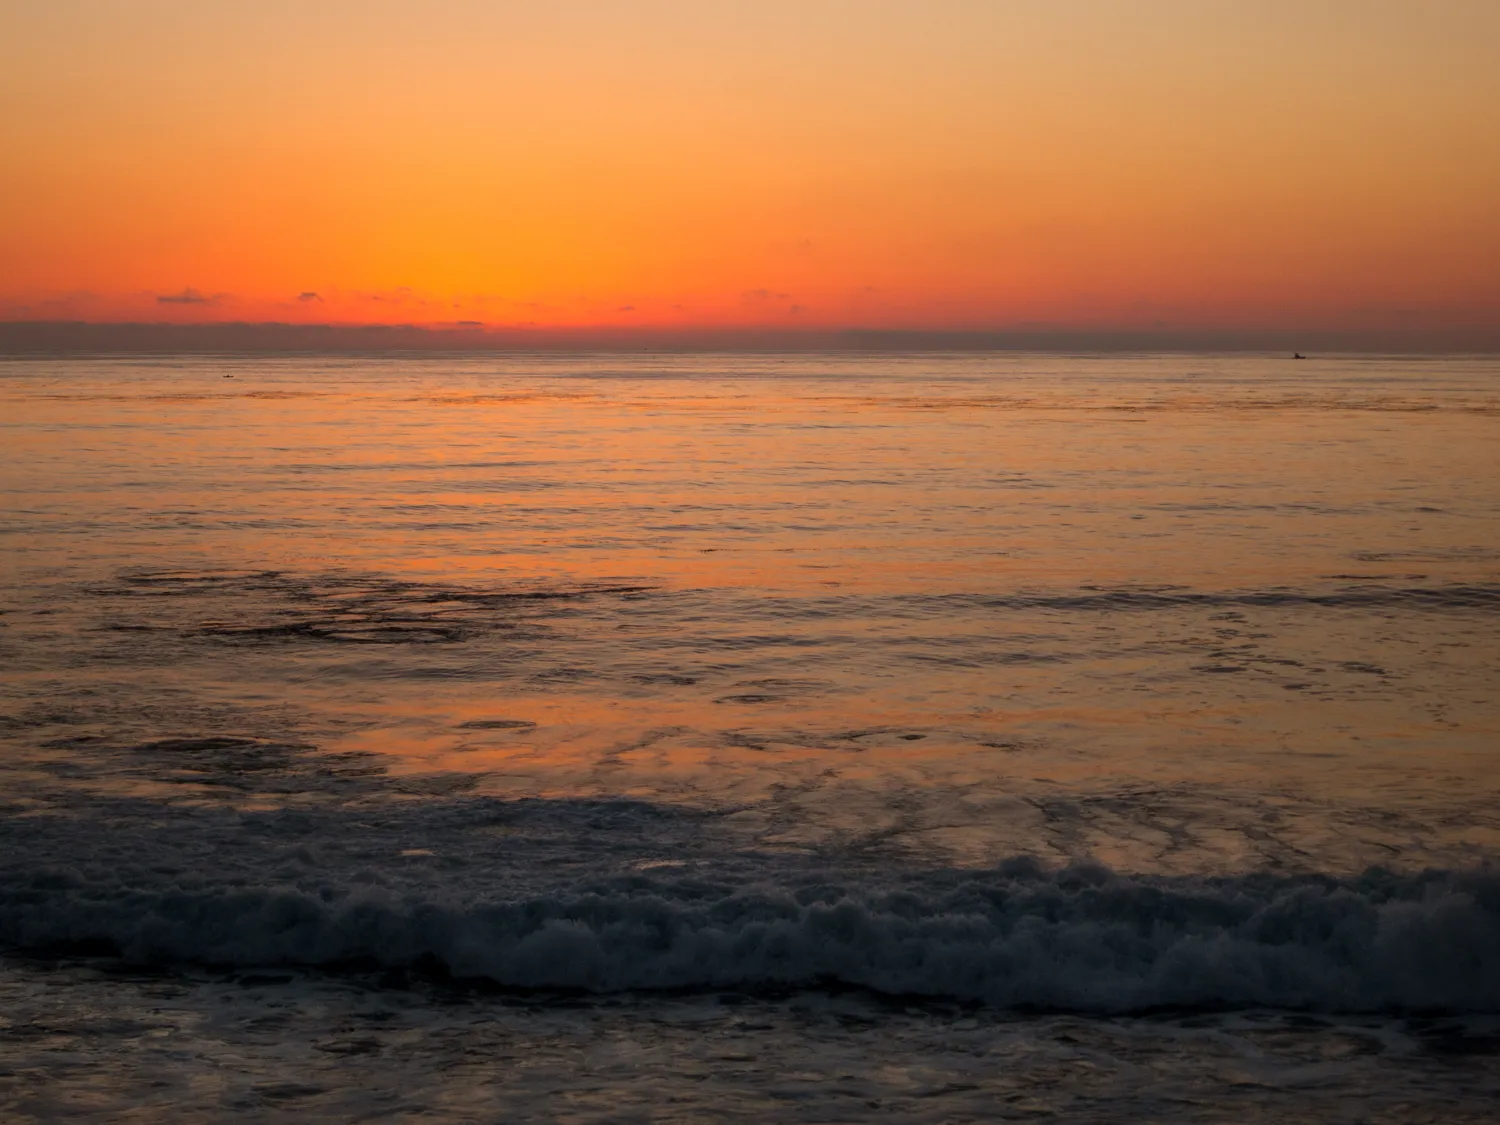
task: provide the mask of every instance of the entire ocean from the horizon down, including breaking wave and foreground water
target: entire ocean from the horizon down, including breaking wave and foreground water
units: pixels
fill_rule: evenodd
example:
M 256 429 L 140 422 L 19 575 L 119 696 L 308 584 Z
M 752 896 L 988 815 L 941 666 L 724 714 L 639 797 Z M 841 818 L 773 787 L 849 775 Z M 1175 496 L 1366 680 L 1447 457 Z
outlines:
M 1500 358 L 0 362 L 0 1118 L 1490 1122 Z

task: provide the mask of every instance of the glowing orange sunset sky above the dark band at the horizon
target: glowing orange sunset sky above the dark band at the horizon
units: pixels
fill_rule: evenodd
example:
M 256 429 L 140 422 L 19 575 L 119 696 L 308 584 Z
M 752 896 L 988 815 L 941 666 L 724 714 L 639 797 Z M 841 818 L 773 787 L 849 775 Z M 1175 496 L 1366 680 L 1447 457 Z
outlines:
M 1500 327 L 1496 0 L 0 0 L 0 321 Z

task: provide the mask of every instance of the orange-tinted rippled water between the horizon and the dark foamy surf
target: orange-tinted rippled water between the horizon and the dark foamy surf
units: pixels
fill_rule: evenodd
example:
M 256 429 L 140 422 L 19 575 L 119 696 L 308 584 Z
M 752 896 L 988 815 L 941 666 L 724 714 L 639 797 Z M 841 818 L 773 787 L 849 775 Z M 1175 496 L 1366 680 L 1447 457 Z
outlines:
M 1492 363 L 788 363 L 16 364 L 9 714 L 100 754 L 298 740 L 358 800 L 363 770 L 686 802 L 758 846 L 1492 840 Z M 93 753 L 24 723 L 39 770 Z M 76 783 L 336 790 L 110 760 Z

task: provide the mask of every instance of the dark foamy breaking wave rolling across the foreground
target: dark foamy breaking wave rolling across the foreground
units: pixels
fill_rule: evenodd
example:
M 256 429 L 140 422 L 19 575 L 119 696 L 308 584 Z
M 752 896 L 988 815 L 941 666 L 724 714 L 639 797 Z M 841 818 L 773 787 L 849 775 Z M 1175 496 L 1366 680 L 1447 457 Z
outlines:
M 12 872 L 10 950 L 132 962 L 440 966 L 502 987 L 852 986 L 1002 1008 L 1500 1011 L 1500 878 L 1130 878 L 1017 860 L 848 882 L 612 876 L 516 897 Z

